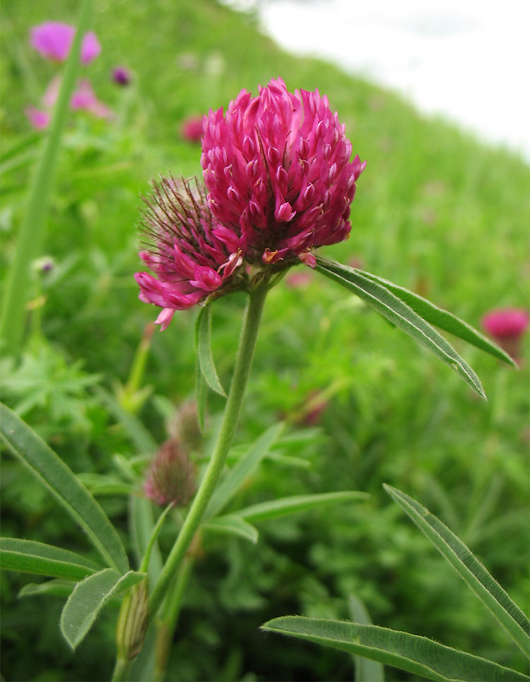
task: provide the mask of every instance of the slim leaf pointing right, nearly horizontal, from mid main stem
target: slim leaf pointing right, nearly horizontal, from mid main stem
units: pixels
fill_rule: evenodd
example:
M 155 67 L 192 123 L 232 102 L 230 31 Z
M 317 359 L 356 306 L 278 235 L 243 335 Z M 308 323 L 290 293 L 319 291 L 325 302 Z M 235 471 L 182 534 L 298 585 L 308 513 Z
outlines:
M 278 516 L 314 509 L 326 504 L 367 500 L 369 497 L 370 495 L 367 493 L 352 490 L 343 490 L 338 493 L 318 493 L 316 495 L 294 495 L 293 497 L 283 497 L 279 500 L 254 504 L 245 509 L 238 509 L 233 514 L 247 521 L 264 521 Z

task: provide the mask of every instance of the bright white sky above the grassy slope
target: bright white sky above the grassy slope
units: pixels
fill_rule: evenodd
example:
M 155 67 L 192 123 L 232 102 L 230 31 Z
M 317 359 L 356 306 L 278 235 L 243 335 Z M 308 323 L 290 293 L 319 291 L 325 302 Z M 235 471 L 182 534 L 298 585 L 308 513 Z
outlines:
M 528 0 L 225 0 L 322 56 L 530 157 Z

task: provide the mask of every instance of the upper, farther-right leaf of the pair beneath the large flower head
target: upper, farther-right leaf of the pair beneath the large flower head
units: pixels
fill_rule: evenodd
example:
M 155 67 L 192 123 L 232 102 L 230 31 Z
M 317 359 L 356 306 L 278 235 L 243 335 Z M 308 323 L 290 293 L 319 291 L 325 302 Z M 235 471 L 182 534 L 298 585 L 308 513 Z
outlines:
M 325 262 L 326 267 L 329 268 L 329 270 L 333 270 L 338 275 L 341 275 L 343 272 L 353 272 L 363 275 L 363 277 L 367 277 L 373 282 L 377 282 L 385 289 L 388 289 L 389 292 L 394 294 L 394 296 L 401 299 L 401 301 L 404 301 L 404 303 L 410 306 L 411 309 L 413 309 L 415 313 L 418 313 L 418 315 L 426 322 L 435 325 L 446 332 L 454 334 L 464 341 L 467 341 L 471 345 L 490 353 L 496 358 L 503 360 L 514 367 L 517 367 L 517 364 L 515 364 L 510 355 L 503 351 L 502 348 L 498 347 L 497 344 L 493 343 L 493 341 L 490 341 L 488 337 L 485 337 L 479 331 L 471 327 L 471 325 L 464 322 L 460 318 L 457 318 L 456 315 L 453 315 L 452 313 L 449 313 L 449 311 L 443 310 L 442 308 L 438 308 L 427 299 L 418 296 L 418 294 L 415 294 L 404 287 L 400 287 L 399 285 L 395 285 L 393 282 L 384 280 L 382 277 L 377 277 L 377 275 L 365 273 L 363 270 L 350 268 L 348 265 L 341 265 L 340 263 L 334 263 L 333 261 L 326 260 Z

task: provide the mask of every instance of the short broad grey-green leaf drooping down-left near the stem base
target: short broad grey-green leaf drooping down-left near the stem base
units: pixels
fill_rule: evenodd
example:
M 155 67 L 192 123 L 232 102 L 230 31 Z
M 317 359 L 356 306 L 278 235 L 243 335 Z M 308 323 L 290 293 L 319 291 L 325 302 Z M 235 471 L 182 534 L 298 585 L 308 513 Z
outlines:
M 120 575 L 113 568 L 105 568 L 78 582 L 61 614 L 61 632 L 72 649 L 83 640 L 103 606 L 114 595 L 125 592 L 145 578 L 145 573 L 134 570 Z

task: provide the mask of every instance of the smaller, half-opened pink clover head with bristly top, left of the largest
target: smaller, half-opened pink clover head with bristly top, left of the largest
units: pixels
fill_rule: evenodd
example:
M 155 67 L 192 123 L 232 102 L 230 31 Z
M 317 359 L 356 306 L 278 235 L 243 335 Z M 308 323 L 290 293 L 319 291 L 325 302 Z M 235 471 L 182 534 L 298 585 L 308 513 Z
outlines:
M 186 310 L 237 287 L 242 263 L 237 234 L 213 217 L 206 197 L 189 181 L 162 178 L 154 184 L 143 217 L 150 243 L 140 258 L 155 273 L 134 275 L 139 298 L 163 311 L 156 324 L 164 330 L 176 310 Z

